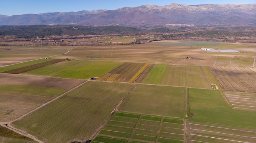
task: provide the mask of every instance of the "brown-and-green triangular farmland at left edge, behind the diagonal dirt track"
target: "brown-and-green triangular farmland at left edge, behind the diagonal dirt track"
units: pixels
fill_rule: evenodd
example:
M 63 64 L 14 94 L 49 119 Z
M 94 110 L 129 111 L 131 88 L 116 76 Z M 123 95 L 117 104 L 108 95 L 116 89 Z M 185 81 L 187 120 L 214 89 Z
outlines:
M 85 82 L 5 73 L 0 73 L 0 79 L 1 122 L 12 121 Z

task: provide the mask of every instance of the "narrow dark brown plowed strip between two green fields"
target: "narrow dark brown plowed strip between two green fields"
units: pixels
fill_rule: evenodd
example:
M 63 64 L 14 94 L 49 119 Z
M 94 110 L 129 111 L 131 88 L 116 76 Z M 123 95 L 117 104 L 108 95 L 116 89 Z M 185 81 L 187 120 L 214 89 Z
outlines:
M 53 60 L 49 60 L 49 61 L 38 63 L 38 64 L 33 64 L 33 65 L 21 67 L 21 68 L 16 68 L 13 70 L 7 70 L 7 71 L 4 71 L 3 73 L 13 73 L 13 74 L 25 73 L 30 70 L 35 70 L 38 68 L 42 68 L 44 66 L 49 66 L 51 64 L 56 64 L 58 62 L 63 62 L 63 61 L 65 61 L 65 59 L 53 59 Z

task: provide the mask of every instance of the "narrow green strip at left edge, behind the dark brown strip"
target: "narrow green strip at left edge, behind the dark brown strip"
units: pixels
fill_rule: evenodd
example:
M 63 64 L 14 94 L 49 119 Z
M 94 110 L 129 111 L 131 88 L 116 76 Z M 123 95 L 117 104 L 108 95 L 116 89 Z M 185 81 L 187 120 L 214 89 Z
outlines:
M 13 64 L 10 66 L 4 66 L 0 68 L 0 73 L 8 71 L 8 70 L 14 70 L 17 68 L 22 68 L 25 66 L 31 66 L 34 64 L 39 64 L 39 63 L 43 63 L 43 62 L 47 62 L 47 61 L 51 61 L 53 59 L 37 59 L 37 60 L 33 60 L 33 61 L 29 61 L 29 62 L 23 62 L 23 63 L 19 63 L 19 64 Z

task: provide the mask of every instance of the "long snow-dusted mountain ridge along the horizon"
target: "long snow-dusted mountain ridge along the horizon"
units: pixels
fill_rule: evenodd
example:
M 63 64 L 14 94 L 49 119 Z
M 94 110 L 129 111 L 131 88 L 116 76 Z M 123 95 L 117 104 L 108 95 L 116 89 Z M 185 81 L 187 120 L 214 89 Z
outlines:
M 256 25 L 256 4 L 142 5 L 116 10 L 0 15 L 0 25 L 120 25 L 152 28 L 169 24 Z

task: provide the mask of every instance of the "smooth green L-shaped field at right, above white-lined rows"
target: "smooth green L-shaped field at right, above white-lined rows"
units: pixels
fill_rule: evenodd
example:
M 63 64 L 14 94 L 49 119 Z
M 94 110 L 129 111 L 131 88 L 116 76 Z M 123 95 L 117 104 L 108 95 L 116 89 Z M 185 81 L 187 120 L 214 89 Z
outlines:
M 189 107 L 189 121 L 256 128 L 256 111 L 232 108 L 220 90 L 189 88 Z

